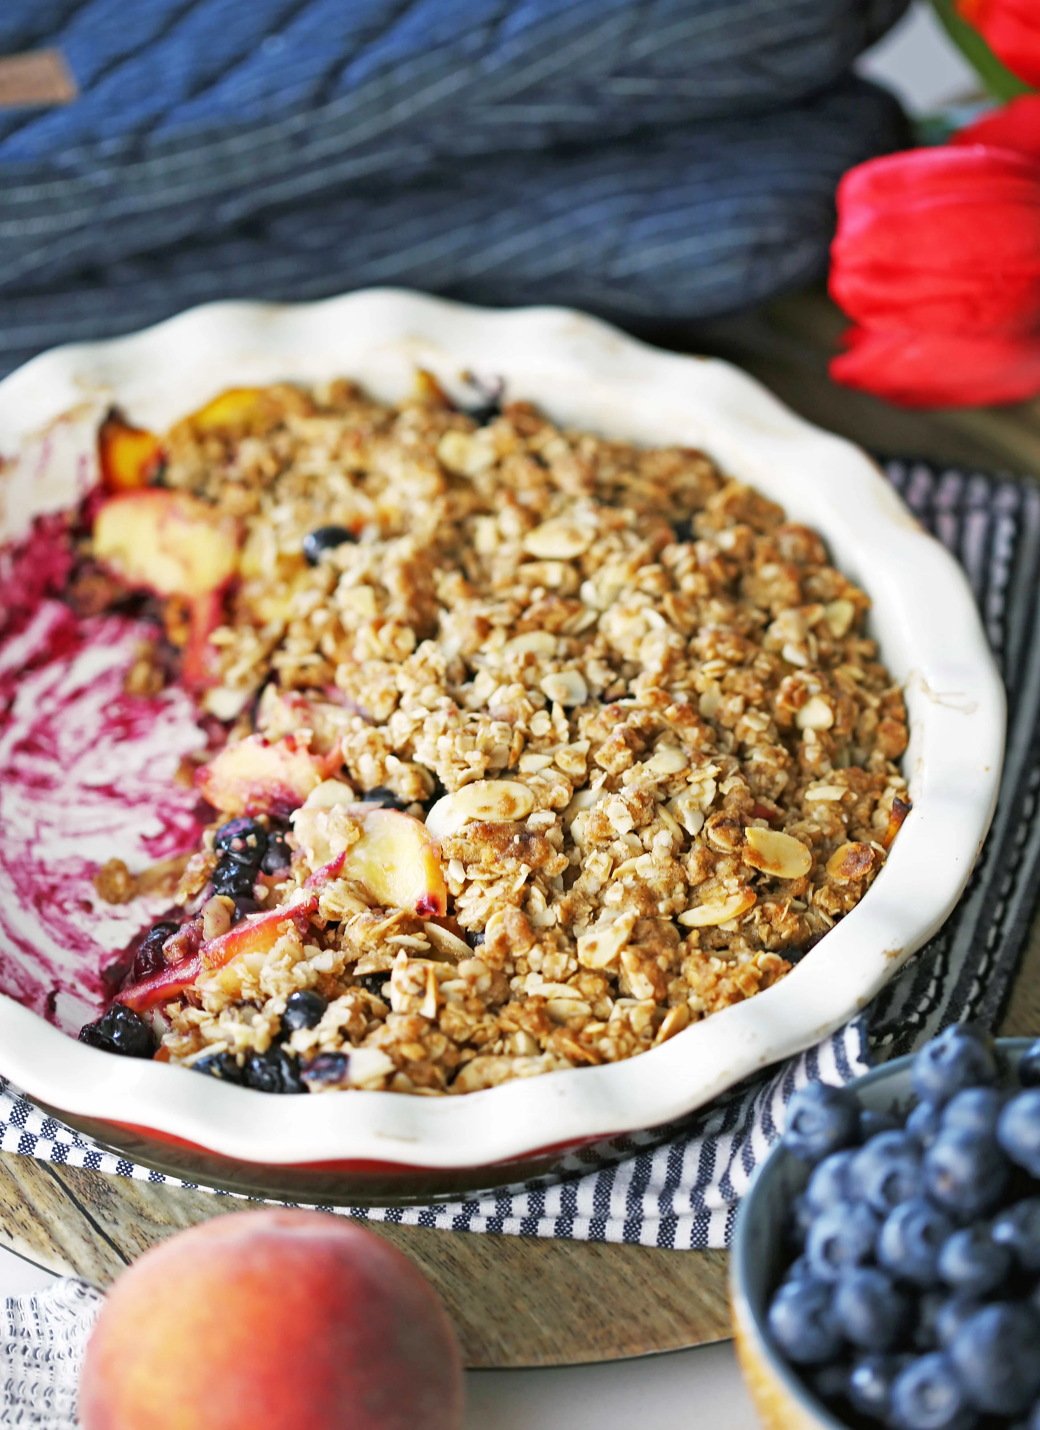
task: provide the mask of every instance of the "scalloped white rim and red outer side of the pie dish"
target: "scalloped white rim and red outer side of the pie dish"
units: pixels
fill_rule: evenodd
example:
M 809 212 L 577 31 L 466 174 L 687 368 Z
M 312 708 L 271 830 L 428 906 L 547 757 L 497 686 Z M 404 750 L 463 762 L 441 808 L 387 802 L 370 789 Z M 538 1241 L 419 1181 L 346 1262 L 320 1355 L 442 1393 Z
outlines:
M 515 1180 L 577 1145 L 669 1123 L 863 1008 L 951 911 L 989 828 L 1004 694 L 953 558 L 858 448 L 727 363 L 658 352 L 579 313 L 369 290 L 300 306 L 209 305 L 44 353 L 0 383 L 0 452 L 24 453 L 0 473 L 0 541 L 90 482 L 92 433 L 113 402 L 163 429 L 222 388 L 279 379 L 343 375 L 399 399 L 416 368 L 449 388 L 463 370 L 501 376 L 509 398 L 566 425 L 704 448 L 817 528 L 871 596 L 871 633 L 906 686 L 913 812 L 863 902 L 767 992 L 631 1061 L 465 1097 L 270 1097 L 99 1052 L 0 995 L 0 1074 L 139 1160 L 269 1193 L 320 1184 L 352 1200 L 426 1195 Z M 63 436 L 51 429 L 41 445 L 37 435 L 70 409 Z M 236 1175 L 236 1164 L 247 1170 Z

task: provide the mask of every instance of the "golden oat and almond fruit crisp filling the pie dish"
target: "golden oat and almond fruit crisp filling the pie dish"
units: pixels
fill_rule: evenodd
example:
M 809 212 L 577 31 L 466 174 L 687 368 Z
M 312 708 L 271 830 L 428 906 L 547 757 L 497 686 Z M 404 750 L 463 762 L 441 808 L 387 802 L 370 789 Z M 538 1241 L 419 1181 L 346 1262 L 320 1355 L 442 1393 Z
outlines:
M 116 413 L 100 459 L 66 599 L 153 613 L 127 688 L 192 692 L 213 812 L 84 1041 L 278 1093 L 612 1062 L 883 867 L 907 719 L 868 599 L 701 452 L 421 375 Z

